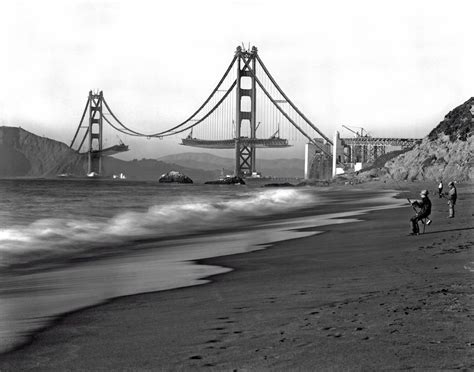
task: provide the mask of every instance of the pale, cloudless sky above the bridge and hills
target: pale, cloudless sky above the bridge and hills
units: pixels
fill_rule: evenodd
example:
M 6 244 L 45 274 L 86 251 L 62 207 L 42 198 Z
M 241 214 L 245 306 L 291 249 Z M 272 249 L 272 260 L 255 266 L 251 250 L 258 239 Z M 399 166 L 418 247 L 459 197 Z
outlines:
M 127 126 L 159 132 L 200 106 L 244 43 L 328 137 L 344 124 L 421 138 L 473 95 L 473 15 L 470 0 L 0 0 L 0 125 L 69 144 L 100 89 Z M 202 151 L 121 139 L 124 159 Z

